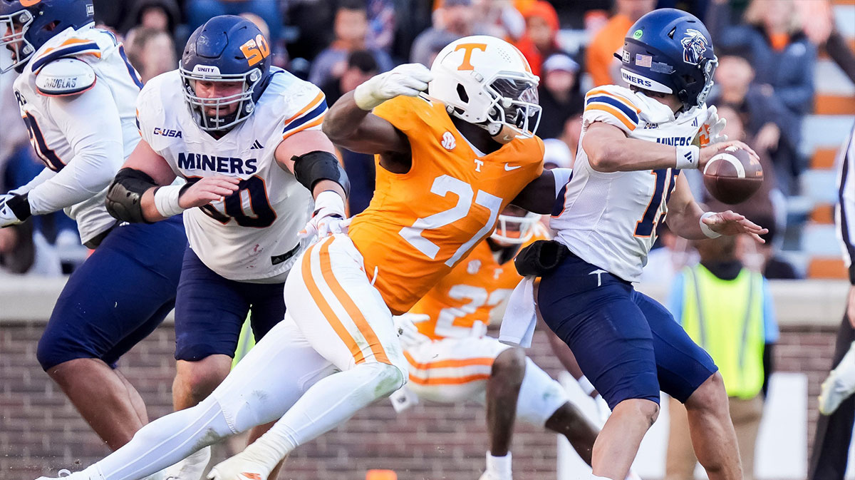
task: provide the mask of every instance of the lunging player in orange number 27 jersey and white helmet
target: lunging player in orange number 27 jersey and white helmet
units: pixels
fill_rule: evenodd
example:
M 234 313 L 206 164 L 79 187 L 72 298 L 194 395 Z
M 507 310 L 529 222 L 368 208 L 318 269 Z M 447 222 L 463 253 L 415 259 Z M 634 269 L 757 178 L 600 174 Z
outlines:
M 428 83 L 431 98 L 421 96 Z M 542 171 L 537 85 L 519 50 L 476 36 L 446 46 L 431 70 L 402 65 L 340 98 L 323 130 L 348 150 L 377 154 L 369 208 L 347 234 L 329 235 L 322 222 L 335 231 L 345 222 L 316 204 L 312 226 L 322 238 L 286 280 L 285 319 L 207 399 L 159 418 L 68 480 L 144 477 L 283 412 L 209 475 L 266 480 L 298 445 L 403 386 L 407 361 L 392 315 L 410 310 L 491 234 L 523 188 L 567 181 Z M 338 175 L 322 167 L 304 173 Z M 156 454 L 132 454 L 139 450 Z

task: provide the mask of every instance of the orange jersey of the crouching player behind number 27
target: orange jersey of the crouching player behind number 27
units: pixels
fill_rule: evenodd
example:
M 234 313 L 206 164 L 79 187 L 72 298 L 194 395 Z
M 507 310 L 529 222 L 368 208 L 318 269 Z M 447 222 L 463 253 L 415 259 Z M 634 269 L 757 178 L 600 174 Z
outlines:
M 534 225 L 535 240 L 547 240 L 546 229 Z M 416 323 L 419 331 L 433 340 L 468 336 L 476 322 L 490 323 L 492 309 L 508 298 L 522 276 L 512 261 L 498 264 L 496 255 L 482 241 L 463 262 L 413 305 L 410 313 L 428 315 L 430 320 Z

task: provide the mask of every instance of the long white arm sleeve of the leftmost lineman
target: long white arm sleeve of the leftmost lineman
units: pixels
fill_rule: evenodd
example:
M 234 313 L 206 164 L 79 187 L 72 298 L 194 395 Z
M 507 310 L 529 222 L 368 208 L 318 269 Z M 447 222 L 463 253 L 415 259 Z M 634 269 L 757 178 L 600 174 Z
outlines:
M 119 110 L 108 86 L 99 82 L 78 97 L 52 99 L 48 110 L 74 156 L 65 168 L 29 192 L 33 215 L 91 198 L 109 185 L 124 162 Z

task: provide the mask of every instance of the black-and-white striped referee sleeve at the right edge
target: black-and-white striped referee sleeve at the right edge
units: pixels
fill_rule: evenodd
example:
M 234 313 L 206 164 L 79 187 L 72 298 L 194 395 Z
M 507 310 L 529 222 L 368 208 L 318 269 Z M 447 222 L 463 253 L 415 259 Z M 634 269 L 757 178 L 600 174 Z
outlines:
M 843 260 L 849 267 L 849 281 L 855 285 L 855 127 L 846 145 L 841 149 L 838 162 L 838 188 L 836 220 Z

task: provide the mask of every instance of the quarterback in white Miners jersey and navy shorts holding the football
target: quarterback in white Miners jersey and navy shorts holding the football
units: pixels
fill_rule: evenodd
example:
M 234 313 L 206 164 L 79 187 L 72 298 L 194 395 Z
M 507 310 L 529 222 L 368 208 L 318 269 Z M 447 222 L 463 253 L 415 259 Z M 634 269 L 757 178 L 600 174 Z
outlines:
M 716 67 L 712 41 L 693 15 L 644 15 L 623 46 L 630 85 L 587 93 L 573 176 L 559 194 L 551 228 L 563 261 L 542 272 L 545 323 L 573 350 L 613 413 L 594 445 L 593 473 L 623 478 L 656 420 L 660 389 L 685 403 L 695 452 L 713 480 L 742 478 L 722 378 L 710 356 L 653 299 L 634 291 L 668 214 L 688 239 L 765 232 L 733 211 L 704 212 L 681 169 L 703 169 L 729 146 L 705 98 Z M 693 144 L 702 130 L 702 144 Z M 716 143 L 719 142 L 719 143 Z M 753 151 L 752 151 L 753 155 Z

